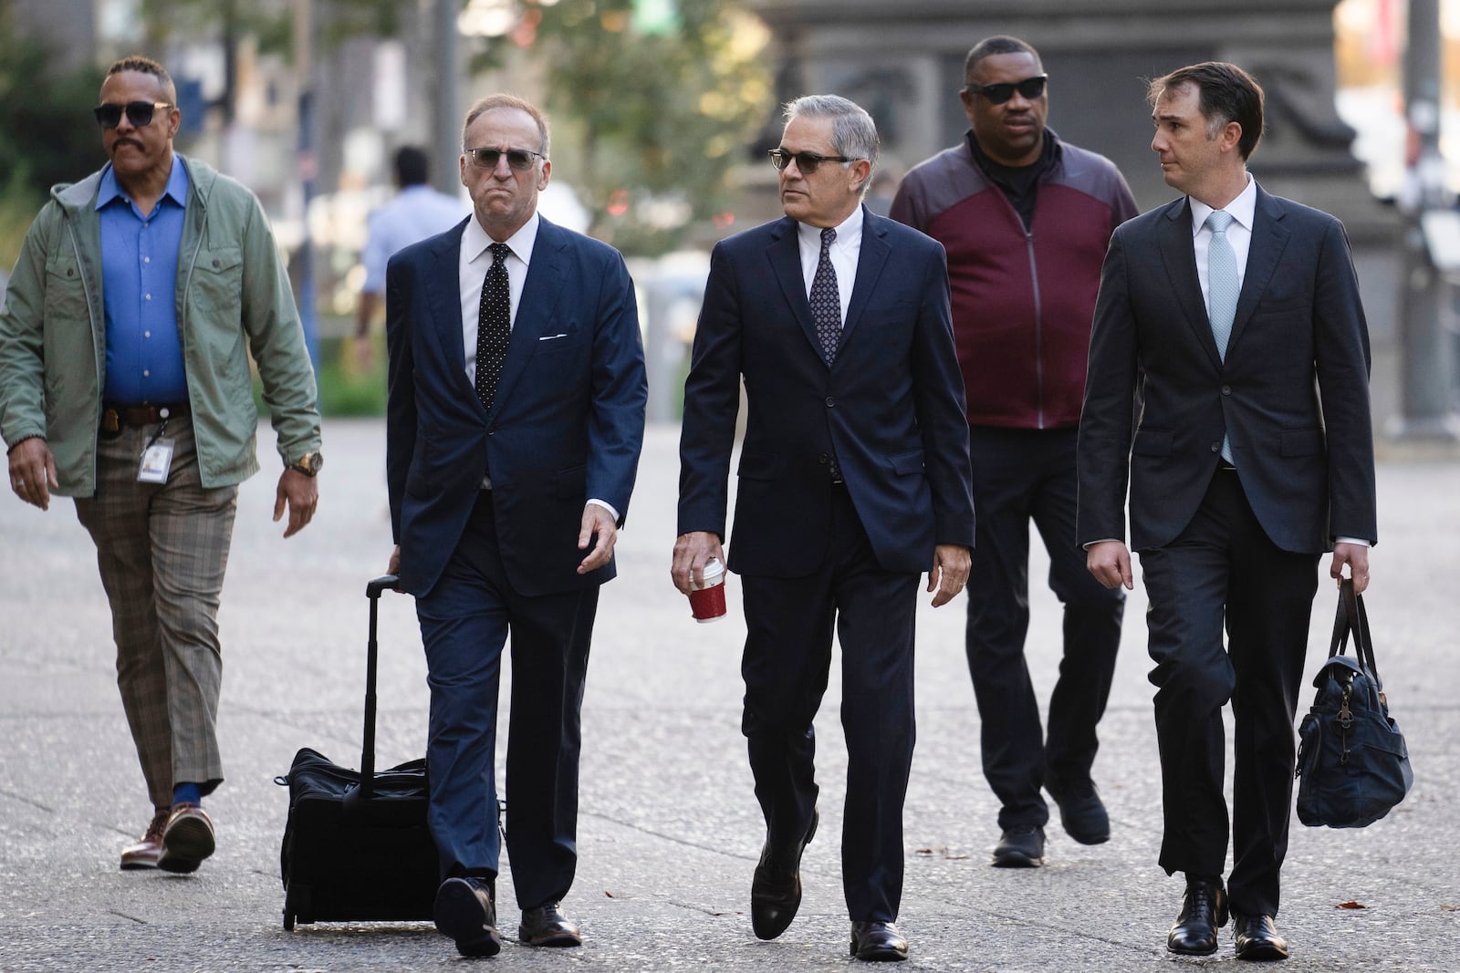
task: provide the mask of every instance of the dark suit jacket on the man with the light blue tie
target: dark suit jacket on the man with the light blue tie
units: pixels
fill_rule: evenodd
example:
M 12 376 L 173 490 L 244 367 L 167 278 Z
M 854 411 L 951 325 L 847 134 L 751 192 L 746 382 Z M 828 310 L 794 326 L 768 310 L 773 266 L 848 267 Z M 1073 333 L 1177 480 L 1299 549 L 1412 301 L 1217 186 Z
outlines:
M 1206 317 L 1186 198 L 1124 223 L 1101 276 L 1079 436 L 1080 544 L 1172 541 L 1229 436 L 1282 550 L 1378 538 L 1369 343 L 1343 226 L 1259 187 L 1226 360 Z M 1143 398 L 1134 414 L 1133 403 Z

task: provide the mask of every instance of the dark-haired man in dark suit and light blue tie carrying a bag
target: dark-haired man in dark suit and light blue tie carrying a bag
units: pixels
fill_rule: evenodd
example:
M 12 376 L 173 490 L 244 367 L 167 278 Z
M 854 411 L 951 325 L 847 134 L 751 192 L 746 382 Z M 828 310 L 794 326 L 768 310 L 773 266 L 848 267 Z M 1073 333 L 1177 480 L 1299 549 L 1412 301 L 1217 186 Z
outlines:
M 1247 172 L 1263 131 L 1257 82 L 1194 64 L 1152 82 L 1149 98 L 1150 147 L 1186 195 L 1117 229 L 1105 257 L 1077 534 L 1095 578 L 1130 588 L 1129 484 L 1156 664 L 1161 865 L 1187 883 L 1167 945 L 1213 953 L 1231 913 L 1238 958 L 1280 960 L 1273 919 L 1318 557 L 1332 550 L 1330 576 L 1348 566 L 1362 591 L 1378 535 L 1368 328 L 1343 226 Z

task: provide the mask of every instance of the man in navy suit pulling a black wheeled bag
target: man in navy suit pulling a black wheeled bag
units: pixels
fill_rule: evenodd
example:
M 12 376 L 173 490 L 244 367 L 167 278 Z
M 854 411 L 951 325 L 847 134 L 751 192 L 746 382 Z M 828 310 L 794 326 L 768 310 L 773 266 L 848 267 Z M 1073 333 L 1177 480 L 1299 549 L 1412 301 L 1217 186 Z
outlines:
M 518 938 L 578 945 L 559 900 L 577 864 L 584 675 L 644 439 L 634 289 L 610 247 L 537 214 L 548 121 L 520 98 L 467 112 L 474 213 L 385 274 L 391 573 L 416 595 L 431 684 L 437 928 L 501 950 L 496 693 L 508 632 L 507 845 Z

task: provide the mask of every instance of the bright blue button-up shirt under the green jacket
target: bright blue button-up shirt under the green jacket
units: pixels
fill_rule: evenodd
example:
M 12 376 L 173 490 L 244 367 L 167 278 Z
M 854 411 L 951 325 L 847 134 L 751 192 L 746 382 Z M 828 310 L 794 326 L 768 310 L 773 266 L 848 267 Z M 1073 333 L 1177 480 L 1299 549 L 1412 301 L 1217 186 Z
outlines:
M 178 247 L 187 206 L 187 168 L 174 156 L 162 198 L 143 214 L 111 165 L 96 193 L 101 219 L 102 303 L 107 311 L 107 387 L 120 406 L 185 403 L 187 371 L 178 333 Z

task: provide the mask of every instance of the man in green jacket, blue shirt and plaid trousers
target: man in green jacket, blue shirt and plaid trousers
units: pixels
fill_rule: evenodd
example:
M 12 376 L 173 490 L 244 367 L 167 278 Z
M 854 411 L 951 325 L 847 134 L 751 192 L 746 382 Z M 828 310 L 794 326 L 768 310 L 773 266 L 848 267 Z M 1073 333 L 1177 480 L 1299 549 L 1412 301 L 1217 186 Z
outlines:
M 258 200 L 174 153 L 166 70 L 127 57 L 95 109 L 108 165 L 51 190 L 0 311 L 10 489 L 76 500 L 96 544 L 117 684 L 153 805 L 121 867 L 191 872 L 218 750 L 218 602 L 238 484 L 258 471 L 248 356 L 283 473 L 274 521 L 318 500 L 320 414 L 289 280 Z

